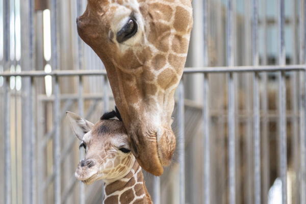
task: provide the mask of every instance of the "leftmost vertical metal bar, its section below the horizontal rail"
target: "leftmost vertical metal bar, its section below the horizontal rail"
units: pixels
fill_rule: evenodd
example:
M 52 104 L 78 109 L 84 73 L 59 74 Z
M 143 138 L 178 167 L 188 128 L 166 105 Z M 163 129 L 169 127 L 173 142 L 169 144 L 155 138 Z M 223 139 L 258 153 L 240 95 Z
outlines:
M 11 184 L 11 134 L 10 134 L 10 78 L 4 79 L 4 137 L 5 137 L 5 204 L 10 204 L 12 197 Z

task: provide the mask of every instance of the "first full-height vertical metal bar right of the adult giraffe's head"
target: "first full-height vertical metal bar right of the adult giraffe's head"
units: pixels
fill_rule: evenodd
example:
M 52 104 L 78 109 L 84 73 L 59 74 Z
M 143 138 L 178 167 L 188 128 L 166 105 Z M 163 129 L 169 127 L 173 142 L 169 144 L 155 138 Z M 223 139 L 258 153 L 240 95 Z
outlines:
M 203 0 L 203 65 L 208 66 L 208 1 Z M 208 74 L 203 75 L 203 203 L 209 204 L 210 199 L 210 139 L 209 139 L 209 105 L 208 105 Z

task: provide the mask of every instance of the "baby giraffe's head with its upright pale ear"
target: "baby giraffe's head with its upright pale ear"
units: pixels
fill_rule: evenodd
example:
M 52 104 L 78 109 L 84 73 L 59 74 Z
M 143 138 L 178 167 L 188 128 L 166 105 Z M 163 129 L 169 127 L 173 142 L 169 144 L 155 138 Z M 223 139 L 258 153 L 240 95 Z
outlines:
M 112 113 L 112 112 L 111 112 Z M 80 161 L 75 177 L 89 185 L 103 180 L 112 183 L 130 172 L 135 163 L 123 123 L 112 114 L 103 115 L 93 124 L 79 115 L 66 112 L 74 134 L 85 148 L 85 159 Z

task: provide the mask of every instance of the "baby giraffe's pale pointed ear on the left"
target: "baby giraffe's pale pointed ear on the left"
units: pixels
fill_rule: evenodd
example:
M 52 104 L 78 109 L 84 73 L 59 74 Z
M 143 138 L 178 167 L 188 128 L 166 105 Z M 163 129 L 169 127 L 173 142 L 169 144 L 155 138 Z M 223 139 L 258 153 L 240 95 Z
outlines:
M 77 136 L 79 140 L 82 140 L 83 136 L 93 127 L 93 123 L 81 118 L 81 116 L 75 113 L 66 111 L 66 116 L 75 136 Z

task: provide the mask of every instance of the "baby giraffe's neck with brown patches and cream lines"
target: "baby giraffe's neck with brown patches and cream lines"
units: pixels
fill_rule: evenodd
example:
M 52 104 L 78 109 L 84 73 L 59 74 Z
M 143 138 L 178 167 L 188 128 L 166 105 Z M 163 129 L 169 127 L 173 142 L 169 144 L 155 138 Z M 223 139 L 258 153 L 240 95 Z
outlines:
M 148 194 L 141 167 L 135 163 L 122 179 L 104 185 L 104 204 L 152 203 Z

